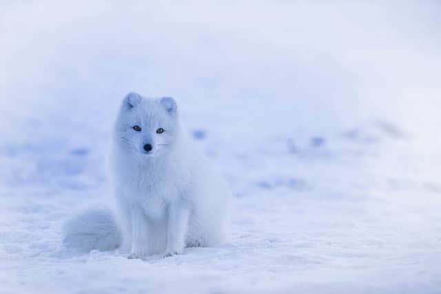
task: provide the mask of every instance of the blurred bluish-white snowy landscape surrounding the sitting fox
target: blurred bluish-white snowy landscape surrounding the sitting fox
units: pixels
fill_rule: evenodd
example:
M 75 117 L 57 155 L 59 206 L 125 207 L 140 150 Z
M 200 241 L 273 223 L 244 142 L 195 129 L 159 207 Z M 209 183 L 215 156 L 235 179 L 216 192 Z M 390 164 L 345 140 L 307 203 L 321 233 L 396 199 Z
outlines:
M 440 293 L 439 1 L 1 1 L 0 293 Z M 127 92 L 174 96 L 230 242 L 72 253 Z

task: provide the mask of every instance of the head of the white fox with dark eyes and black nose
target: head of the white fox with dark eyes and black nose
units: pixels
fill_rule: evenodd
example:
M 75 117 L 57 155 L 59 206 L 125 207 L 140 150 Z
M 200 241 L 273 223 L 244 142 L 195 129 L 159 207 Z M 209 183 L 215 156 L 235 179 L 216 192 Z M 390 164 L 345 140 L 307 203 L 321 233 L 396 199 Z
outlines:
M 118 147 L 133 156 L 151 158 L 167 154 L 178 136 L 176 102 L 173 98 L 145 98 L 129 93 L 116 120 Z

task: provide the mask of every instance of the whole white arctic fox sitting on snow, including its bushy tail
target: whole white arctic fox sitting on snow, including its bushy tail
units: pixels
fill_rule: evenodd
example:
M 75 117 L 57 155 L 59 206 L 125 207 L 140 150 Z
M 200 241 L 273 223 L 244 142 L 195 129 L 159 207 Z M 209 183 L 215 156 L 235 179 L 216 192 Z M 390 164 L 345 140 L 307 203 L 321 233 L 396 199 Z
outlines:
M 185 246 L 225 242 L 231 194 L 181 127 L 173 98 L 136 93 L 123 98 L 112 165 L 119 225 L 110 213 L 101 212 L 96 220 L 85 213 L 68 223 L 65 244 L 87 249 L 121 246 L 129 258 L 143 259 L 155 253 L 179 254 Z M 107 240 L 101 241 L 104 237 Z

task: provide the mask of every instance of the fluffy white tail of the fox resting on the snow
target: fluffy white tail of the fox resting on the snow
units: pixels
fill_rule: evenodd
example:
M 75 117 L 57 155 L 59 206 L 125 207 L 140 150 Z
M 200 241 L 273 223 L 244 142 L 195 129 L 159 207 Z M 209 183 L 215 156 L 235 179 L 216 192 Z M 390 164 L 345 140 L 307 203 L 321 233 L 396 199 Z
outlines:
M 121 231 L 112 211 L 90 209 L 65 222 L 63 244 L 81 252 L 108 251 L 121 245 Z

